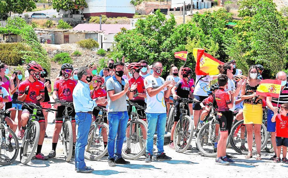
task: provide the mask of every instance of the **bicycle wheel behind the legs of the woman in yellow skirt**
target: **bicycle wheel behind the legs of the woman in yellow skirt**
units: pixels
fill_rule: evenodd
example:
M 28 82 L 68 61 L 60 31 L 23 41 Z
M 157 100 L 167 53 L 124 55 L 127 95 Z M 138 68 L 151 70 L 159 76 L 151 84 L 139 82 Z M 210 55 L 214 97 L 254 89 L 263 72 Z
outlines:
M 244 146 L 247 150 L 241 150 L 241 138 L 244 141 Z M 244 124 L 244 120 L 238 121 L 231 129 L 231 139 L 230 139 L 231 146 L 233 149 L 242 154 L 248 154 L 248 143 L 247 143 L 247 131 Z M 261 150 L 263 150 L 267 143 L 267 129 L 264 124 L 261 125 Z M 252 153 L 256 154 L 256 144 L 255 144 L 255 137 L 253 134 L 253 144 L 252 144 Z

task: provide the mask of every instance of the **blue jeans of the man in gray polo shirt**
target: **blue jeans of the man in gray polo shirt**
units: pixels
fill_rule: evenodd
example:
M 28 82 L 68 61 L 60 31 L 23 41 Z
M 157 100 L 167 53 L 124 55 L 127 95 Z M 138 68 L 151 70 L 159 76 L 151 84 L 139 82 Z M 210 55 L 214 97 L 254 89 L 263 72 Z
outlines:
M 109 134 L 108 134 L 108 159 L 117 160 L 121 158 L 123 141 L 126 136 L 126 127 L 129 116 L 128 112 L 109 112 Z M 117 136 L 117 137 L 116 137 Z M 116 141 L 115 141 L 116 140 Z

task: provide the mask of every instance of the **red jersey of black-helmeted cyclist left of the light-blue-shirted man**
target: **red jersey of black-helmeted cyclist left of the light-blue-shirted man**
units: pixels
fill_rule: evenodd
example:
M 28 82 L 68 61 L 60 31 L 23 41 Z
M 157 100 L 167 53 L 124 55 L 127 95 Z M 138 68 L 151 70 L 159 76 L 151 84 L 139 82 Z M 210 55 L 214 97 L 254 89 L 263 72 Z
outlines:
M 60 80 L 55 81 L 53 91 L 57 91 L 59 100 L 73 102 L 72 93 L 76 84 L 76 81 L 71 80 L 70 78 L 66 81 L 61 78 Z

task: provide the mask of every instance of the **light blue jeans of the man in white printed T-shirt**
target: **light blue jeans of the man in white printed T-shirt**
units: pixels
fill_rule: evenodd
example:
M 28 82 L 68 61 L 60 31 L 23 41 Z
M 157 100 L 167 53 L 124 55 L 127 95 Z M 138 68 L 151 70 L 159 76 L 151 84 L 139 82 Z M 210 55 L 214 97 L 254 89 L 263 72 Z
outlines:
M 166 126 L 166 113 L 147 113 L 146 117 L 148 120 L 148 132 L 147 132 L 147 140 L 146 140 L 146 154 L 150 153 L 153 155 L 153 138 L 157 126 L 157 154 L 160 155 L 164 152 L 164 135 L 165 135 L 165 126 Z

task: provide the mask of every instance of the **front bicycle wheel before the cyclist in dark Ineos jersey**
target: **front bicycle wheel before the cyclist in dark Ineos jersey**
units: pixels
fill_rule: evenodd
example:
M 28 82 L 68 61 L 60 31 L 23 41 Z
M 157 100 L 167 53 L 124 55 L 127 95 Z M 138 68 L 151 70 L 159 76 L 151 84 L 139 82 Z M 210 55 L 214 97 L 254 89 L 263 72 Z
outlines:
M 173 135 L 174 148 L 176 152 L 183 153 L 188 149 L 191 144 L 193 136 L 193 121 L 192 119 L 185 115 L 176 124 L 176 128 Z

